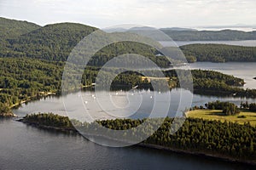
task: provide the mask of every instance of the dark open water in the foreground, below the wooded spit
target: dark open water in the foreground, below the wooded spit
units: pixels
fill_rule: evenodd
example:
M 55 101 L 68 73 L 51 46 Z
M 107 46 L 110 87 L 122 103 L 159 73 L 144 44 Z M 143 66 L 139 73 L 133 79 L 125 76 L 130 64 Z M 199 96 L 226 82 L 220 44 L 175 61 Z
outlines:
M 14 120 L 1 120 L 0 134 L 0 169 L 253 169 L 139 146 L 110 148 Z

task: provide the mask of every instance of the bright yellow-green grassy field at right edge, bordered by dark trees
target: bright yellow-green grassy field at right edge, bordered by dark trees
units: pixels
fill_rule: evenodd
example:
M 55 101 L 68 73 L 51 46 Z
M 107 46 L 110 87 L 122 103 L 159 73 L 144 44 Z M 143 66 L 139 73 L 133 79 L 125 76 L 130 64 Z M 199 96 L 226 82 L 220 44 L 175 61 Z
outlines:
M 188 111 L 186 113 L 187 117 L 192 118 L 202 118 L 207 120 L 219 120 L 221 122 L 237 122 L 239 124 L 244 124 L 245 122 L 250 122 L 250 124 L 254 127 L 256 126 L 256 113 L 251 111 L 241 111 L 236 116 L 224 116 L 222 111 L 220 110 L 195 110 Z M 241 117 L 240 117 L 241 116 Z M 244 116 L 244 117 L 242 117 Z

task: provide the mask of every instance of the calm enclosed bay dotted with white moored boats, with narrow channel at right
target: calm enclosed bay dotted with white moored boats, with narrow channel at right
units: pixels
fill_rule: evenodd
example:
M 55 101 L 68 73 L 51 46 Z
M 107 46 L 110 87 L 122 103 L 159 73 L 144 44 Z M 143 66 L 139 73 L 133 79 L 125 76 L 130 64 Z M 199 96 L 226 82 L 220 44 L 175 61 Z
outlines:
M 148 117 L 148 113 L 153 108 L 153 105 L 155 103 L 157 108 L 157 111 L 159 111 L 158 116 L 165 116 L 164 109 L 161 109 L 162 105 L 168 105 L 166 103 L 166 96 L 169 94 L 161 93 L 161 94 L 154 94 L 154 92 L 148 92 L 148 91 L 137 91 L 134 93 L 134 98 L 137 98 L 137 102 L 135 103 L 129 103 L 129 93 L 121 93 L 116 95 L 116 92 L 112 92 L 113 94 L 112 99 L 114 104 L 120 106 L 121 105 L 129 105 L 129 107 L 125 108 L 125 110 L 134 111 L 134 108 L 138 108 L 134 115 L 128 116 L 131 118 L 143 118 Z M 74 94 L 68 94 L 67 96 L 62 97 L 48 97 L 46 99 L 40 99 L 39 101 L 33 101 L 28 103 L 27 105 L 23 104 L 21 107 L 17 110 L 14 110 L 14 113 L 17 116 L 26 116 L 28 113 L 38 113 L 38 112 L 54 112 L 58 113 L 60 115 L 75 117 L 80 120 L 84 120 L 83 116 L 86 115 L 86 111 L 95 119 L 106 119 L 106 118 L 115 118 L 114 116 L 125 116 L 126 111 L 122 109 L 122 107 L 116 107 L 111 110 L 111 115 L 108 114 L 108 109 L 104 109 L 104 111 L 107 111 L 105 113 L 102 111 L 102 105 L 98 104 L 97 99 L 93 99 L 92 96 L 94 96 L 94 92 L 83 92 L 80 93 L 74 93 Z M 128 94 L 128 95 L 126 95 Z M 183 95 L 183 102 L 180 103 L 181 94 Z M 155 96 L 154 96 L 155 95 Z M 81 99 L 82 96 L 82 99 Z M 127 98 L 128 96 L 128 98 Z M 143 99 L 141 97 L 143 96 Z M 153 99 L 151 99 L 151 96 Z M 157 97 L 158 98 L 157 98 Z M 168 116 L 174 116 L 175 114 L 181 115 L 182 112 L 186 108 L 190 108 L 190 100 L 189 97 L 193 96 L 192 99 L 192 106 L 194 105 L 205 105 L 208 101 L 215 101 L 217 99 L 219 100 L 225 100 L 230 101 L 232 103 L 236 103 L 236 105 L 240 105 L 241 101 L 247 100 L 248 102 L 256 102 L 256 99 L 247 99 L 247 98 L 236 98 L 236 97 L 216 97 L 216 96 L 206 96 L 206 95 L 198 95 L 198 94 L 191 94 L 188 90 L 184 89 L 173 89 L 171 92 L 171 104 L 170 104 L 170 110 L 168 111 Z M 106 100 L 110 99 L 106 97 Z M 115 100 L 116 99 L 116 100 Z M 154 100 L 156 99 L 156 100 Z M 81 101 L 79 103 L 79 100 Z M 68 106 L 66 105 L 66 110 L 63 104 L 63 101 L 68 101 Z M 87 101 L 87 105 L 83 105 L 83 102 Z M 116 102 L 118 101 L 118 102 Z M 178 105 L 180 107 L 178 108 Z M 110 111 L 109 111 L 110 112 Z M 78 114 L 82 113 L 82 114 Z M 119 115 L 118 115 L 119 114 Z

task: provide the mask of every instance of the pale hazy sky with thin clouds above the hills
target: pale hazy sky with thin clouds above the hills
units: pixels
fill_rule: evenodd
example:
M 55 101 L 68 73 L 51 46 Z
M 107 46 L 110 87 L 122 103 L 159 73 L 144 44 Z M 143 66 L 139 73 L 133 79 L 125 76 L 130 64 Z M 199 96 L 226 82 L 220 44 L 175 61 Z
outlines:
M 255 0 L 0 0 L 0 16 L 107 27 L 256 25 Z

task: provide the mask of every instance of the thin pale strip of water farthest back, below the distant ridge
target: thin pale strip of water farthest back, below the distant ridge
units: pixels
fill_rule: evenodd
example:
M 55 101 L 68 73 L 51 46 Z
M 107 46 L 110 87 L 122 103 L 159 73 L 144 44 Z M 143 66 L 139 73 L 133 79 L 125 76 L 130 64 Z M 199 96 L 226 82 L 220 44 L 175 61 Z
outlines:
M 173 46 L 173 42 L 161 41 L 163 46 L 169 47 Z M 217 44 L 227 44 L 227 45 L 237 45 L 237 46 L 246 46 L 246 47 L 256 47 L 256 40 L 244 40 L 244 41 L 189 41 L 189 42 L 176 42 L 177 46 L 189 45 L 189 44 L 207 44 L 207 43 L 217 43 Z

